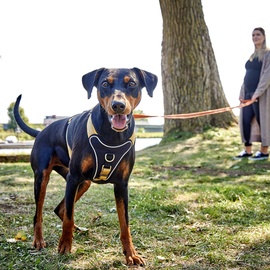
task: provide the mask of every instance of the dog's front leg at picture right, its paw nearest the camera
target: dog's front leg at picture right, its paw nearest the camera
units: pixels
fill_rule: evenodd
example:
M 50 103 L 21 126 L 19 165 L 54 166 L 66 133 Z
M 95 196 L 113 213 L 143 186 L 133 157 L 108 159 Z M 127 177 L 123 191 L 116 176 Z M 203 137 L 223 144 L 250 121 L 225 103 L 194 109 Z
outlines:
M 129 228 L 128 217 L 128 185 L 122 183 L 114 185 L 115 201 L 120 224 L 120 238 L 123 246 L 123 253 L 126 256 L 127 265 L 145 265 L 144 260 L 137 254 Z

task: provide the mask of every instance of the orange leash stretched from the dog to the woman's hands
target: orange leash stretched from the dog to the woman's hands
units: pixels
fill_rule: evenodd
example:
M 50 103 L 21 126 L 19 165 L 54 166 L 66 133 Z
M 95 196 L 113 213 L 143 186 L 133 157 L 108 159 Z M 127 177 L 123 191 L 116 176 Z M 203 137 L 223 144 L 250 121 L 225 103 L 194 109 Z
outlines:
M 203 112 L 181 113 L 181 114 L 171 114 L 171 115 L 163 115 L 163 116 L 146 115 L 146 114 L 133 114 L 133 116 L 134 116 L 135 119 L 150 118 L 150 117 L 163 117 L 163 118 L 166 118 L 166 119 L 189 119 L 189 118 L 195 118 L 195 117 L 200 117 L 200 116 L 205 116 L 205 115 L 228 112 L 228 111 L 233 110 L 233 109 L 243 108 L 243 107 L 249 106 L 253 102 L 254 101 L 251 101 L 251 100 L 243 100 L 242 103 L 240 105 L 238 105 L 238 106 L 225 107 L 225 108 L 208 110 L 208 111 L 203 111 Z

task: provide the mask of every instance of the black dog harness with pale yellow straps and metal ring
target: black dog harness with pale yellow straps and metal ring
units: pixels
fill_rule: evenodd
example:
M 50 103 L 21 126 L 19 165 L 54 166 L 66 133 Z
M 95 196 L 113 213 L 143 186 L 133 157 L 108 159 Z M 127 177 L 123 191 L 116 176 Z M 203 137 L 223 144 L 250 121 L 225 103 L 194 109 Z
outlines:
M 69 119 L 69 124 L 71 121 L 72 118 Z M 102 138 L 96 132 L 95 127 L 92 123 L 91 113 L 88 117 L 86 129 L 89 138 L 89 144 L 91 146 L 91 150 L 95 160 L 92 179 L 95 181 L 107 181 L 109 180 L 112 173 L 115 171 L 123 157 L 134 145 L 136 139 L 135 132 L 133 132 L 129 140 L 127 140 L 121 145 L 107 145 L 102 141 Z M 69 157 L 71 157 L 72 149 L 68 141 L 68 128 L 66 137 Z

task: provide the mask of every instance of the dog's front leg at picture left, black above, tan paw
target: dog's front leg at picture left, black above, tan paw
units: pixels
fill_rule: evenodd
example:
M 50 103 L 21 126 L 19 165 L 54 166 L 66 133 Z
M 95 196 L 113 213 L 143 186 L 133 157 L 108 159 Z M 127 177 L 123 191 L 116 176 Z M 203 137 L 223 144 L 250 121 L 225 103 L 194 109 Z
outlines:
M 67 177 L 65 193 L 65 210 L 63 217 L 62 236 L 58 245 L 58 252 L 61 254 L 71 252 L 73 229 L 74 229 L 74 205 L 78 190 L 78 182 Z

